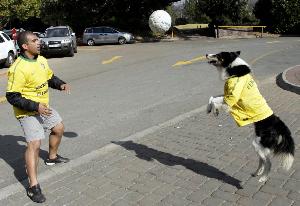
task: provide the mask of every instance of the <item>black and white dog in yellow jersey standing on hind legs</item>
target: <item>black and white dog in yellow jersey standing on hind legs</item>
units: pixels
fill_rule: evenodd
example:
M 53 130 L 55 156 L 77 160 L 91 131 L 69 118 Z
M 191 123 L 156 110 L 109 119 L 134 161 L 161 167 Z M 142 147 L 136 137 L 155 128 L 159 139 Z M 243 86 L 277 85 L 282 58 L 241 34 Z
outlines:
M 294 162 L 295 144 L 289 128 L 260 94 L 250 66 L 239 57 L 240 53 L 206 54 L 208 63 L 217 68 L 225 81 L 224 95 L 210 97 L 207 112 L 215 116 L 220 111 L 230 112 L 238 126 L 254 124 L 256 137 L 252 145 L 259 164 L 252 176 L 260 176 L 259 182 L 265 182 L 271 170 L 270 154 L 281 157 L 283 168 L 289 170 Z

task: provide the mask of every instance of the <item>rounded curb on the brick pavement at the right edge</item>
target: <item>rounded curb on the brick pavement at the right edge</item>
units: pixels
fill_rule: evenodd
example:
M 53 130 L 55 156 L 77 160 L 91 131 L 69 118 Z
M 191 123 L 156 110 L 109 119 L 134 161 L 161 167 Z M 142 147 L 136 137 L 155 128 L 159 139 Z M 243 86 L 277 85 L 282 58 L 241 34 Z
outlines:
M 280 74 L 277 75 L 277 77 L 276 77 L 276 84 L 279 87 L 281 87 L 282 89 L 284 89 L 284 90 L 287 90 L 287 91 L 290 91 L 290 92 L 294 92 L 294 93 L 300 95 L 300 85 L 292 83 L 287 78 L 287 73 L 289 71 L 291 71 L 292 69 L 295 69 L 295 68 L 296 68 L 296 71 L 299 71 L 299 73 L 300 73 L 300 65 L 296 65 L 296 66 L 290 67 L 290 68 L 284 70 L 282 73 L 280 73 Z

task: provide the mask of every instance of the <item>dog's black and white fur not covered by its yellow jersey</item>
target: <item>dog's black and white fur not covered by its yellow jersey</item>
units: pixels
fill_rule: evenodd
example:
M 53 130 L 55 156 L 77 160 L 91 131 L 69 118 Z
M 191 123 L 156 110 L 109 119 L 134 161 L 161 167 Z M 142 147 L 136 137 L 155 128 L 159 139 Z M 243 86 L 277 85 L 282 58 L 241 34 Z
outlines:
M 208 63 L 214 65 L 222 80 L 231 76 L 241 77 L 251 73 L 250 66 L 240 57 L 240 51 L 207 54 Z M 230 111 L 224 102 L 223 96 L 211 97 L 208 104 L 208 113 L 218 115 L 220 110 Z M 270 154 L 281 157 L 282 166 L 289 170 L 294 161 L 295 145 L 289 128 L 274 114 L 264 120 L 254 123 L 256 138 L 252 144 L 259 157 L 258 169 L 252 176 L 259 176 L 259 182 L 265 182 L 271 169 Z

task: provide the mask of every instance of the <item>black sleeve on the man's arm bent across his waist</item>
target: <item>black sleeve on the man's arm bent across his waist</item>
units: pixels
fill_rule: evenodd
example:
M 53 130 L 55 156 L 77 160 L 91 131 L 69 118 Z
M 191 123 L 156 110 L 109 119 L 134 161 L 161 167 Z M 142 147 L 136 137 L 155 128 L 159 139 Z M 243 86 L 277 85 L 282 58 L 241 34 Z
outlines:
M 33 112 L 38 111 L 39 103 L 22 97 L 19 92 L 6 92 L 7 101 L 15 107 Z

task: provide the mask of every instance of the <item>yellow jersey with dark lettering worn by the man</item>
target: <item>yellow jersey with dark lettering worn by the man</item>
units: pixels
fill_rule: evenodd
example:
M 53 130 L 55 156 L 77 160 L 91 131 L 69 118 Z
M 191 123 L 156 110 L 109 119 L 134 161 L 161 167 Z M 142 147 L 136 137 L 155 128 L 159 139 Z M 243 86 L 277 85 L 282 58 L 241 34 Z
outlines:
M 44 57 L 27 59 L 20 56 L 8 70 L 7 92 L 19 92 L 26 99 L 49 105 L 48 80 L 52 75 Z M 13 108 L 17 118 L 37 114 Z

